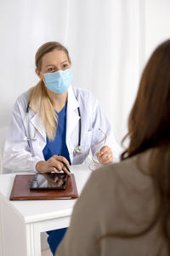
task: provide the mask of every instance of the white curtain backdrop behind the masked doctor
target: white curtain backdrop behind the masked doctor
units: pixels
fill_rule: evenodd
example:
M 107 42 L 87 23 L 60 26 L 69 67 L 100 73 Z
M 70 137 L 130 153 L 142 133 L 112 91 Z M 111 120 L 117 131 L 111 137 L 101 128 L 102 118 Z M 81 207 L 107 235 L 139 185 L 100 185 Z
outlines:
M 59 41 L 71 55 L 72 84 L 93 91 L 121 142 L 144 62 L 144 1 L 4 0 L 0 32 L 0 127 L 37 83 L 37 48 Z

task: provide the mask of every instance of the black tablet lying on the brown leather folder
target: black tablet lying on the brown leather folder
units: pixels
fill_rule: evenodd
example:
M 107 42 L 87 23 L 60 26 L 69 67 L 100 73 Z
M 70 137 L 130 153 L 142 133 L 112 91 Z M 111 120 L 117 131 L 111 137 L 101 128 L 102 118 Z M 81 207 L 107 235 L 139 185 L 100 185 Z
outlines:
M 31 182 L 30 189 L 66 189 L 66 173 L 37 173 Z

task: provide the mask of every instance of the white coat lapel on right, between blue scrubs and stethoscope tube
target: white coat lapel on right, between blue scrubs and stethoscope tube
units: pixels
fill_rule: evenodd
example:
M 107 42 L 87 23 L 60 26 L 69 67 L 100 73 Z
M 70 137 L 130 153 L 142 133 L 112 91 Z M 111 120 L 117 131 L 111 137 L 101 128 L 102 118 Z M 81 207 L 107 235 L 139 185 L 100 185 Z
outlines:
M 80 119 L 76 109 L 79 107 L 77 98 L 74 95 L 72 88 L 68 90 L 67 113 L 66 113 L 66 141 L 71 140 L 71 133 L 75 129 L 78 120 Z

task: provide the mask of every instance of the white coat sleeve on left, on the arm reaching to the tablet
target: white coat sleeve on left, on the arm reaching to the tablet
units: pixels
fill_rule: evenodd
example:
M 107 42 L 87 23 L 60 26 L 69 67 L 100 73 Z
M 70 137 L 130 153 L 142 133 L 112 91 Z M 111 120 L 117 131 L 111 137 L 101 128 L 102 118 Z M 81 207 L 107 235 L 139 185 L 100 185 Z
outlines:
M 32 156 L 26 137 L 26 99 L 18 99 L 14 104 L 8 126 L 7 138 L 3 152 L 3 169 L 5 172 L 36 171 L 37 156 Z

